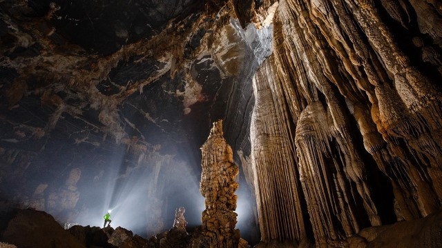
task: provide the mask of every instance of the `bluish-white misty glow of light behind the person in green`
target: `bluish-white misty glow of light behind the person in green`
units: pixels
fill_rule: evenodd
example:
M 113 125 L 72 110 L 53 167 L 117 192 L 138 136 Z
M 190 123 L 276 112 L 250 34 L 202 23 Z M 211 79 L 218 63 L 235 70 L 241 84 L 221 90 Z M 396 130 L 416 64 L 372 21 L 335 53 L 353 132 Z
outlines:
M 148 229 L 157 225 L 151 223 L 152 216 L 162 219 L 164 226 L 160 231 L 166 231 L 173 225 L 175 209 L 182 206 L 186 208 L 184 217 L 188 225 L 201 225 L 204 198 L 200 194 L 200 174 L 195 175 L 198 172 L 191 163 L 183 161 L 186 158 L 170 159 L 161 165 L 155 161 L 135 165 L 124 153 L 115 154 L 108 158 L 112 164 L 108 164 L 99 182 L 84 180 L 78 185 L 81 204 L 86 205 L 88 212 L 73 218 L 73 223 L 103 227 L 103 216 L 111 210 L 111 227 L 123 227 L 146 237 Z M 160 167 L 155 174 L 157 166 Z M 160 211 L 155 211 L 158 206 L 154 198 L 162 204 Z

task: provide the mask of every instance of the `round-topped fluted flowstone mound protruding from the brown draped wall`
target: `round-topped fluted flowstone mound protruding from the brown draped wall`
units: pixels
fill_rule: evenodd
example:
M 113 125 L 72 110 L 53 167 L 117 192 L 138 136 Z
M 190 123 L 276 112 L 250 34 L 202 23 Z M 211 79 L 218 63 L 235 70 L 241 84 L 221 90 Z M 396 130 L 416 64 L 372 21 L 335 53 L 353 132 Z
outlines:
M 361 200 L 349 190 L 351 181 L 345 175 L 344 154 L 334 154 L 333 145 L 329 143 L 336 136 L 334 130 L 329 129 L 333 126 L 331 122 L 331 115 L 325 112 L 323 105 L 314 102 L 302 112 L 296 127 L 302 188 L 320 247 L 352 236 L 363 223 L 362 216 L 358 216 Z M 339 149 L 340 145 L 334 145 Z

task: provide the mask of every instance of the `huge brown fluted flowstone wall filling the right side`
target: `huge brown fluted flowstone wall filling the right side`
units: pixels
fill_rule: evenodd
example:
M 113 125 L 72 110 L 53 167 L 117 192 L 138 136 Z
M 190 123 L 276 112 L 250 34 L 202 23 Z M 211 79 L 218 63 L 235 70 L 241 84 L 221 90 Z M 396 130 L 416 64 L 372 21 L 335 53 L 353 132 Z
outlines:
M 422 16 L 439 10 L 381 3 L 279 1 L 273 55 L 253 80 L 262 240 L 300 240 L 311 227 L 327 247 L 440 209 L 442 23 Z

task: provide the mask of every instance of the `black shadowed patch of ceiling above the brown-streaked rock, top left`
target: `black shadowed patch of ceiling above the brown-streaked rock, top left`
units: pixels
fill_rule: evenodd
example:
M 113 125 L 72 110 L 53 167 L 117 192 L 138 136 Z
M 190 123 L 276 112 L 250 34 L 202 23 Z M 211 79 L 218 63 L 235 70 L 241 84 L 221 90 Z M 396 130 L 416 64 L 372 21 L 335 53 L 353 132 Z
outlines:
M 49 19 L 58 31 L 59 43 L 81 45 L 89 52 L 111 54 L 123 45 L 150 38 L 161 32 L 171 19 L 184 19 L 202 9 L 201 1 L 28 1 L 31 17 L 45 17 L 55 3 L 57 11 Z

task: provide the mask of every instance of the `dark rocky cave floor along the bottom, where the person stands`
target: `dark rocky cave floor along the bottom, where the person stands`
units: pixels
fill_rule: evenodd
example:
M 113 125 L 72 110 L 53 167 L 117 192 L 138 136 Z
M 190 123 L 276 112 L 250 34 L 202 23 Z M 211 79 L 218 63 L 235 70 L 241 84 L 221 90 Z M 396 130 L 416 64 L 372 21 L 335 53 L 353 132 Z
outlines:
M 2 248 L 131 248 L 131 247 L 195 247 L 201 229 L 188 233 L 185 229 L 172 227 L 161 234 L 143 238 L 133 235 L 132 231 L 122 227 L 82 227 L 79 225 L 65 230 L 57 221 L 44 211 L 35 209 L 17 209 L 1 216 Z M 418 220 L 404 221 L 394 225 L 383 225 L 363 229 L 358 235 L 347 238 L 340 247 L 349 248 L 436 248 L 442 247 L 442 211 Z M 193 245 L 192 245 L 193 244 Z M 337 244 L 329 244 L 334 247 Z M 200 243 L 197 247 L 205 247 Z M 241 240 L 239 247 L 247 247 Z M 262 242 L 255 248 L 269 247 L 315 247 L 309 242 L 299 245 L 286 242 Z

